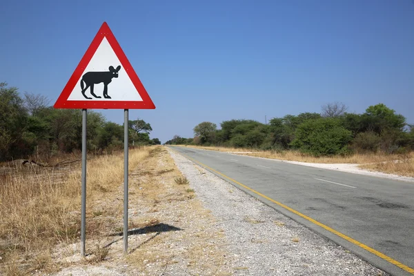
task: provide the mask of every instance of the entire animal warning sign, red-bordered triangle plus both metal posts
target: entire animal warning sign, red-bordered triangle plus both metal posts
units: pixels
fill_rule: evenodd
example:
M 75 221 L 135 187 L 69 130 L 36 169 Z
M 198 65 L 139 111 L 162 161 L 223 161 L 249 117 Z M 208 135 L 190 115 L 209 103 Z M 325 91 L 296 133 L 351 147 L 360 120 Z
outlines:
M 73 72 L 54 108 L 82 109 L 81 256 L 86 244 L 86 124 L 87 110 L 124 109 L 124 253 L 128 253 L 128 110 L 155 109 L 108 24 Z

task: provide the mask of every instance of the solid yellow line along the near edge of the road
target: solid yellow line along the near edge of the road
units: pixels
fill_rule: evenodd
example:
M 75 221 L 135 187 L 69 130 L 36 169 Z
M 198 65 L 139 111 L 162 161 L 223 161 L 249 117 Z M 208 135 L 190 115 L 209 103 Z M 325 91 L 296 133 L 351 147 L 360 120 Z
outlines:
M 181 152 L 180 152 L 180 154 L 183 155 Z M 186 155 L 184 155 L 184 156 L 186 156 Z M 333 229 L 329 226 L 326 226 L 325 224 L 322 224 L 319 221 L 317 221 L 317 220 L 315 220 L 311 217 L 308 217 L 307 215 L 304 215 L 304 214 L 298 212 L 297 210 L 294 210 L 294 209 L 290 208 L 289 206 L 286 206 L 286 205 L 280 203 L 279 201 L 275 201 L 274 199 L 271 199 L 270 197 L 267 197 L 266 195 L 263 195 L 262 193 L 257 192 L 257 190 L 253 190 L 252 188 L 240 183 L 239 181 L 236 181 L 235 179 L 230 178 L 227 175 L 222 174 L 221 172 L 217 172 L 217 170 L 215 170 L 213 168 L 210 168 L 209 166 L 206 166 L 206 165 L 202 164 L 201 162 L 199 162 L 199 161 L 197 161 L 197 160 L 195 160 L 191 157 L 188 157 L 188 156 L 186 156 L 186 157 L 188 159 L 190 159 L 191 161 L 193 161 L 195 163 L 198 163 L 201 166 L 204 166 L 204 167 L 208 168 L 209 170 L 213 170 L 213 172 L 216 172 L 218 175 L 221 175 L 222 177 L 224 177 L 226 179 L 229 179 L 230 181 L 233 181 L 234 183 L 238 184 L 239 186 L 242 186 L 243 188 L 245 188 L 247 190 L 250 190 L 251 192 L 255 193 L 256 195 L 259 195 L 259 196 L 263 197 L 264 199 L 267 199 L 268 201 L 272 201 L 273 203 L 285 208 L 286 210 L 290 210 L 290 212 L 298 215 L 299 217 L 303 217 L 304 219 L 306 219 L 308 221 L 311 221 L 313 224 L 316 224 L 317 226 L 320 226 L 320 227 L 324 228 L 325 230 L 328 230 L 329 232 L 331 232 L 331 233 L 333 233 L 333 234 L 335 234 L 339 237 L 342 237 L 342 239 L 346 239 L 348 242 L 351 242 L 351 243 L 359 246 L 360 248 L 364 248 L 368 252 L 371 252 L 374 255 L 377 255 L 378 257 L 380 257 L 381 259 L 386 260 L 386 262 L 389 262 L 389 263 L 391 263 L 395 266 L 398 266 L 399 268 L 402 268 L 403 270 L 406 270 L 408 273 L 411 273 L 411 274 L 414 275 L 414 269 L 413 268 L 411 268 L 409 266 L 406 266 L 405 264 L 402 264 L 402 263 L 398 262 L 397 260 L 395 260 L 391 257 L 388 257 L 387 255 L 375 250 L 374 248 L 366 246 L 365 244 L 362 244 L 362 242 L 358 242 L 356 239 L 348 237 L 347 235 L 344 235 L 344 234 L 338 232 L 337 230 L 335 230 L 335 229 Z

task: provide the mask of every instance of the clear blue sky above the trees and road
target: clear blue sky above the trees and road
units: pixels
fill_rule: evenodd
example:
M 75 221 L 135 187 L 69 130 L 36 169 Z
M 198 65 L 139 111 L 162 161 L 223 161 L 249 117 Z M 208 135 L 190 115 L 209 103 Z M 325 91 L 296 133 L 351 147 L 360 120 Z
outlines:
M 0 81 L 55 103 L 106 21 L 155 110 L 151 137 L 385 103 L 414 123 L 414 1 L 3 1 Z M 99 111 L 99 110 L 98 110 Z M 122 124 L 122 110 L 101 110 Z

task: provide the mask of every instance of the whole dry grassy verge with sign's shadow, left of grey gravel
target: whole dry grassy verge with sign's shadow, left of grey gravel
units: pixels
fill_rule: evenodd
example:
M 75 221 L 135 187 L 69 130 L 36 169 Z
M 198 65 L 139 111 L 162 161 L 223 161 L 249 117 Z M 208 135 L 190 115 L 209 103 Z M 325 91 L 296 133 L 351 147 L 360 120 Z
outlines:
M 75 157 L 61 155 L 52 161 Z M 222 249 L 223 230 L 161 146 L 130 150 L 130 253 L 124 255 L 123 161 L 122 152 L 90 155 L 88 160 L 85 258 L 80 257 L 81 166 L 14 162 L 3 167 L 0 275 L 50 275 L 59 270 L 61 275 L 75 275 L 80 268 L 90 275 L 103 270 L 108 275 L 115 270 L 161 275 L 167 266 L 177 272 L 184 267 L 194 275 L 228 270 L 224 265 L 231 257 Z

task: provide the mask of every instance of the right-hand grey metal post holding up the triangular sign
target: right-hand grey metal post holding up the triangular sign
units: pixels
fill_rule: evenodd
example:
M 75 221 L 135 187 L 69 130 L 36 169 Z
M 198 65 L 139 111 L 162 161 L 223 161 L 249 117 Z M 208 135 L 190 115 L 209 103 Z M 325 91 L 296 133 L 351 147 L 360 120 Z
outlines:
M 124 253 L 128 253 L 128 109 L 124 110 Z

